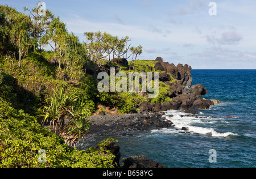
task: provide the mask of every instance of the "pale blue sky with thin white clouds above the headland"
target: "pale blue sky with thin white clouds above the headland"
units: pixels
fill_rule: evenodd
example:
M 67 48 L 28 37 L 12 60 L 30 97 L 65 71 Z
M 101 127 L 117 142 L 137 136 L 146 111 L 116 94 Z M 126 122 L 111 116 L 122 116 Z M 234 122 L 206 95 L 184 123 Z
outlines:
M 32 8 L 38 1 L 0 0 L 2 5 Z M 217 15 L 209 15 L 207 0 L 94 0 L 48 1 L 46 8 L 59 15 L 85 40 L 84 32 L 129 36 L 142 45 L 139 59 L 162 57 L 192 69 L 256 69 L 256 1 L 214 1 Z

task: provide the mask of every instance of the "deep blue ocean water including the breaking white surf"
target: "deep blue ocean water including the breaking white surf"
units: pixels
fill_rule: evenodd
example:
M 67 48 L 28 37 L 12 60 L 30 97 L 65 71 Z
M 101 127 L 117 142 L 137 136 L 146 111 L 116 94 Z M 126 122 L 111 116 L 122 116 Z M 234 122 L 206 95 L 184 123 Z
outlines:
M 192 70 L 191 73 L 192 84 L 207 88 L 208 94 L 203 97 L 222 103 L 200 110 L 198 118 L 180 117 L 183 110 L 166 112 L 174 115 L 170 120 L 175 128 L 136 132 L 132 137 L 112 136 L 119 140 L 121 158 L 144 155 L 167 168 L 256 167 L 256 70 Z M 183 126 L 189 127 L 191 134 L 179 133 Z M 77 148 L 86 149 L 105 138 L 88 138 Z M 210 150 L 216 153 L 209 153 Z

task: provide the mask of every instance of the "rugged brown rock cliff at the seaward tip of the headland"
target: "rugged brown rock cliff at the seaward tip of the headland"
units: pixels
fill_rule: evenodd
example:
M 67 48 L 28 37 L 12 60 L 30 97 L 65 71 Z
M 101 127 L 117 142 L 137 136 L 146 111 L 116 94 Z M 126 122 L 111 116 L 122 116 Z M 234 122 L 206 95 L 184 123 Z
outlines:
M 189 109 L 195 106 L 198 109 L 208 109 L 212 105 L 212 101 L 204 100 L 203 95 L 208 93 L 203 84 L 196 84 L 191 86 L 191 66 L 185 64 L 184 66 L 179 64 L 175 66 L 173 63 L 164 62 L 163 58 L 157 57 L 155 59 L 155 70 L 164 71 L 165 73 L 159 74 L 159 80 L 168 84 L 170 92 L 168 95 L 172 101 L 165 101 L 162 104 L 150 104 L 143 102 L 139 108 L 142 111 L 166 111 L 166 110 L 178 110 Z M 170 82 L 171 76 L 176 79 L 176 82 Z

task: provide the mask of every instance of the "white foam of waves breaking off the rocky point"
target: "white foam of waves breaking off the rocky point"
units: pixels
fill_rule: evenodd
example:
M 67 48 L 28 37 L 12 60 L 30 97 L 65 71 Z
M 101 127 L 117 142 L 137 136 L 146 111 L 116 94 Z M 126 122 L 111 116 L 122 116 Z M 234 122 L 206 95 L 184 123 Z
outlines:
M 224 121 L 225 118 L 214 118 L 209 116 L 200 117 L 187 115 L 180 110 L 168 110 L 166 112 L 166 120 L 171 120 L 175 124 L 175 129 L 162 129 L 160 131 L 153 130 L 152 133 L 179 133 L 182 127 L 188 127 L 189 131 L 192 133 L 210 134 L 212 137 L 228 137 L 229 135 L 237 135 L 231 132 L 219 133 L 211 127 L 216 122 L 227 123 L 227 121 Z

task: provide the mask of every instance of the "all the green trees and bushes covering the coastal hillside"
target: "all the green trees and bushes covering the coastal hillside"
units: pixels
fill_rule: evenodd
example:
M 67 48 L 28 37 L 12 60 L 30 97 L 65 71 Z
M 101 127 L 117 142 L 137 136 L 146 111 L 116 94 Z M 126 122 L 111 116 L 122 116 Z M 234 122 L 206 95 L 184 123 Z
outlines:
M 156 99 L 146 92 L 98 92 L 102 65 L 147 73 L 155 71 L 156 62 L 138 60 L 142 46 L 131 46 L 127 36 L 84 35 L 80 42 L 59 16 L 42 14 L 38 6 L 18 12 L 0 5 L 0 167 L 114 167 L 106 149 L 113 139 L 99 144 L 100 151 L 73 148 L 89 130 L 88 116 L 98 105 L 129 113 L 142 101 L 171 100 L 170 87 L 162 82 Z M 119 62 L 130 57 L 126 65 Z M 52 131 L 40 125 L 47 122 Z

